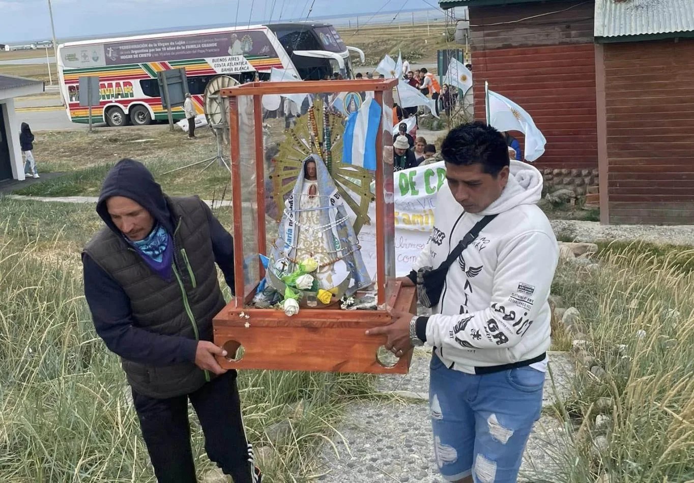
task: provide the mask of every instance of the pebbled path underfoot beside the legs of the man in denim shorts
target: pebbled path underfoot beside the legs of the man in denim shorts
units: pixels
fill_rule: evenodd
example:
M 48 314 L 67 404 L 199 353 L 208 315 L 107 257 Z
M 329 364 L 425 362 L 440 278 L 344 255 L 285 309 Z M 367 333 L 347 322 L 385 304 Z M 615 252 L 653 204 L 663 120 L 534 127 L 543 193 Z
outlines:
M 400 398 L 362 401 L 350 407 L 340 434 L 332 437 L 335 447 L 323 446 L 319 481 L 444 482 L 432 447 L 427 396 L 429 359 L 427 352 L 417 350 L 407 375 L 379 378 L 378 392 Z M 550 364 L 561 397 L 570 390 L 573 359 L 566 353 L 550 353 Z M 543 406 L 554 400 L 548 375 Z M 530 474 L 536 468 L 547 471 L 553 456 L 562 452 L 562 433 L 559 421 L 542 416 L 528 442 L 521 472 Z

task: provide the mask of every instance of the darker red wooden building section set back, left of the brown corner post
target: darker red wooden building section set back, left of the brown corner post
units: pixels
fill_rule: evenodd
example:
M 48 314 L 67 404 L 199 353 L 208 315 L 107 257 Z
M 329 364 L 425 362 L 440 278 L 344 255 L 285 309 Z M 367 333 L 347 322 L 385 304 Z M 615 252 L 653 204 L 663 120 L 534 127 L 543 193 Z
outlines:
M 547 138 L 540 169 L 597 170 L 593 0 L 439 3 L 468 6 L 476 117 L 484 119 L 487 80 L 530 112 Z

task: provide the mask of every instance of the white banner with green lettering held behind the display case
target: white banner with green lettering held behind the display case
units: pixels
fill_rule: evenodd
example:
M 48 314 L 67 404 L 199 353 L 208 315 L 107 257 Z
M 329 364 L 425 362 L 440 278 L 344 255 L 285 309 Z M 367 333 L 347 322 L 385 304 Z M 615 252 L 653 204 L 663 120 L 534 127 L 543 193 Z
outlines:
M 395 204 L 396 276 L 405 276 L 427 244 L 434 228 L 434 207 L 446 183 L 443 161 L 393 173 Z M 362 257 L 371 278 L 376 277 L 376 207 L 369 206 L 370 225 L 359 232 Z

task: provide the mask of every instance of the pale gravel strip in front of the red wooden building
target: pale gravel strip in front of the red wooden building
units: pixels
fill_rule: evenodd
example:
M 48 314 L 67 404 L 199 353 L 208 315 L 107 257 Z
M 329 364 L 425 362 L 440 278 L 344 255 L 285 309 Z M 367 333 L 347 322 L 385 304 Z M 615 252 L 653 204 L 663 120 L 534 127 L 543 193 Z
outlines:
M 575 242 L 642 240 L 655 244 L 694 245 L 694 225 L 601 225 L 597 221 L 552 220 L 557 237 Z

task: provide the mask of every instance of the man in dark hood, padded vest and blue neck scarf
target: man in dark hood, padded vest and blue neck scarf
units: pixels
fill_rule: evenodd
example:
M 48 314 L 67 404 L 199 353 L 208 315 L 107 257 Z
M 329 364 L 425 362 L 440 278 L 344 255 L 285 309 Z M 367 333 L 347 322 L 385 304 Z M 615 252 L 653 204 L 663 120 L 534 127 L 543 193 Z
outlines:
M 205 450 L 235 483 L 259 483 L 246 440 L 236 371 L 217 364 L 212 317 L 225 305 L 219 266 L 234 290 L 231 235 L 196 196 L 169 197 L 142 163 L 120 160 L 85 246 L 85 296 L 97 334 L 121 357 L 159 483 L 194 483 L 188 400 Z

